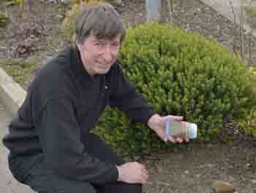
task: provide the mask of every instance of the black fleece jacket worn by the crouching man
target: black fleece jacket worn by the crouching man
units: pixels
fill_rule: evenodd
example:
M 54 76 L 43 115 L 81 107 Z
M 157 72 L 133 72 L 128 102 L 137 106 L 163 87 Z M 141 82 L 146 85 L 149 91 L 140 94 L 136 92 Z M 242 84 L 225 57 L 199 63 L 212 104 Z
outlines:
M 116 106 L 146 123 L 154 114 L 117 63 L 107 74 L 89 76 L 77 47 L 50 60 L 31 82 L 3 143 L 10 158 L 43 154 L 54 173 L 78 181 L 117 180 L 115 165 L 86 153 L 86 136 L 105 106 Z

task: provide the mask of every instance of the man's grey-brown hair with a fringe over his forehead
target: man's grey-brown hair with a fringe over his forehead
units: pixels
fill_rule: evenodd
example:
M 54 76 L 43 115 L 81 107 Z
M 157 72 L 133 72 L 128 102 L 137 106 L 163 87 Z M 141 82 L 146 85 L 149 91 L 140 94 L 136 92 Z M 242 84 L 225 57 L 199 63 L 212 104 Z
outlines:
M 75 23 L 75 40 L 83 44 L 90 35 L 98 38 L 114 39 L 125 36 L 125 24 L 121 16 L 110 4 L 94 4 L 83 7 Z

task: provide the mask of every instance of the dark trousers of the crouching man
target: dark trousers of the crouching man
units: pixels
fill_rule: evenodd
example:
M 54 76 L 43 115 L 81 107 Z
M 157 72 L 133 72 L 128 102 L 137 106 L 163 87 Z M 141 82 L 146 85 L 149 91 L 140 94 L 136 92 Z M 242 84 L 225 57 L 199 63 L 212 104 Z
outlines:
M 97 157 L 105 162 L 121 165 L 124 160 L 118 157 L 116 152 L 102 141 L 97 135 L 89 134 L 86 140 L 86 146 L 89 146 L 87 151 L 92 157 Z M 19 170 L 23 173 L 23 184 L 31 186 L 38 193 L 141 193 L 141 184 L 127 184 L 117 181 L 112 184 L 95 186 L 83 181 L 72 181 L 68 178 L 56 176 L 51 170 L 45 168 L 43 156 L 37 156 L 31 159 L 30 167 L 24 167 L 23 164 L 28 163 L 29 158 L 23 159 L 25 162 L 21 164 L 15 160 L 15 164 L 10 164 L 12 173 Z M 25 168 L 25 169 L 24 169 Z M 25 177 L 26 176 L 26 177 Z

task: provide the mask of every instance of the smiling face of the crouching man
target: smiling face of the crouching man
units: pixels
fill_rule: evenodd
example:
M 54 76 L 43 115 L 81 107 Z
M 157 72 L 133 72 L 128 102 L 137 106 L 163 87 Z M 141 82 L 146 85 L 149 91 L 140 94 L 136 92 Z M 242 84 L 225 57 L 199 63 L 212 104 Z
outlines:
M 83 44 L 78 44 L 83 67 L 89 75 L 106 74 L 116 62 L 121 36 L 114 39 L 99 39 L 89 36 Z

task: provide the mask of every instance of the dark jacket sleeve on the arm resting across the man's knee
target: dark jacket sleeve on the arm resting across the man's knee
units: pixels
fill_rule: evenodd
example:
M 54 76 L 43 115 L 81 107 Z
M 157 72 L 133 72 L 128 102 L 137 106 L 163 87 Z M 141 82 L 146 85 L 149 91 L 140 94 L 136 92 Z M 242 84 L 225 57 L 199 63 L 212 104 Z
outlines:
M 59 176 L 93 184 L 116 182 L 116 166 L 91 157 L 80 141 L 75 104 L 62 97 L 50 99 L 36 120 L 39 142 L 48 166 Z

